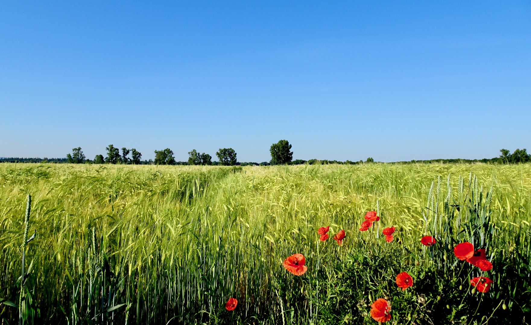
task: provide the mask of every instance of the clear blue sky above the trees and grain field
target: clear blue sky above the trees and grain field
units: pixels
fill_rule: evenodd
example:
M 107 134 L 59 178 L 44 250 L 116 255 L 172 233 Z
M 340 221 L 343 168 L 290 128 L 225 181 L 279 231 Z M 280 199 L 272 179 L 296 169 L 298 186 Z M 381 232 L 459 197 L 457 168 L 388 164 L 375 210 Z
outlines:
M 0 2 L 0 156 L 531 150 L 531 3 Z

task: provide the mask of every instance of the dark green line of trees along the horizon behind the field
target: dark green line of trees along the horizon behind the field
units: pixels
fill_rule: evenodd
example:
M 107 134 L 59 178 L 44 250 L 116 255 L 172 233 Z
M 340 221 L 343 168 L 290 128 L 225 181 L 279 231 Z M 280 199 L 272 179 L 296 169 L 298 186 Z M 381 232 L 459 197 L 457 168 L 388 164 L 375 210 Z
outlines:
M 0 157 L 0 162 L 10 163 L 85 163 L 85 164 L 162 164 L 162 165 L 238 165 L 238 166 L 268 166 L 268 165 L 300 165 L 300 164 L 345 164 L 356 165 L 363 163 L 375 162 L 371 157 L 365 161 L 338 161 L 338 160 L 319 160 L 310 159 L 293 160 L 293 152 L 290 152 L 292 145 L 287 140 L 280 140 L 278 143 L 271 145 L 271 160 L 269 162 L 238 162 L 236 160 L 236 152 L 232 148 L 220 148 L 216 155 L 219 161 L 212 161 L 212 157 L 209 154 L 199 153 L 195 149 L 190 151 L 188 161 L 175 161 L 173 151 L 169 148 L 164 150 L 155 150 L 155 160 L 141 160 L 142 154 L 136 149 L 122 148 L 122 154 L 119 153 L 117 147 L 109 145 L 106 147 L 107 157 L 103 155 L 96 155 L 94 160 L 86 159 L 85 155 L 81 151 L 81 147 L 73 148 L 72 154 L 67 154 L 66 158 L 19 158 L 19 157 Z M 526 149 L 517 149 L 512 154 L 507 149 L 500 150 L 501 155 L 491 159 L 430 159 L 430 160 L 410 160 L 410 161 L 396 161 L 389 163 L 400 164 L 416 164 L 416 163 L 498 163 L 498 164 L 511 164 L 511 163 L 526 163 L 531 162 L 531 154 L 527 153 Z M 132 157 L 129 154 L 132 153 Z M 378 162 L 383 163 L 383 162 Z

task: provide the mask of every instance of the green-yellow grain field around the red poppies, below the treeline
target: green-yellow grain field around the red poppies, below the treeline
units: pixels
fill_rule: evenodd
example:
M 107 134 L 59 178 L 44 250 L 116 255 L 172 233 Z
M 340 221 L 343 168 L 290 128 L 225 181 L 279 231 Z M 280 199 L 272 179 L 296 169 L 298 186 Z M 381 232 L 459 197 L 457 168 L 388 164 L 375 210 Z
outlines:
M 529 164 L 2 163 L 0 182 L 0 298 L 19 302 L 22 287 L 25 322 L 376 323 L 368 313 L 380 297 L 400 324 L 529 319 Z M 37 236 L 22 285 L 28 194 Z M 377 206 L 378 228 L 359 232 Z M 330 237 L 346 231 L 342 247 L 318 247 L 326 225 Z M 438 243 L 423 247 L 424 234 Z M 488 293 L 471 293 L 478 268 L 452 252 L 462 241 L 487 248 Z M 282 267 L 293 253 L 306 257 L 303 276 Z M 415 282 L 404 292 L 401 271 Z M 4 323 L 18 321 L 17 308 L 0 306 Z

